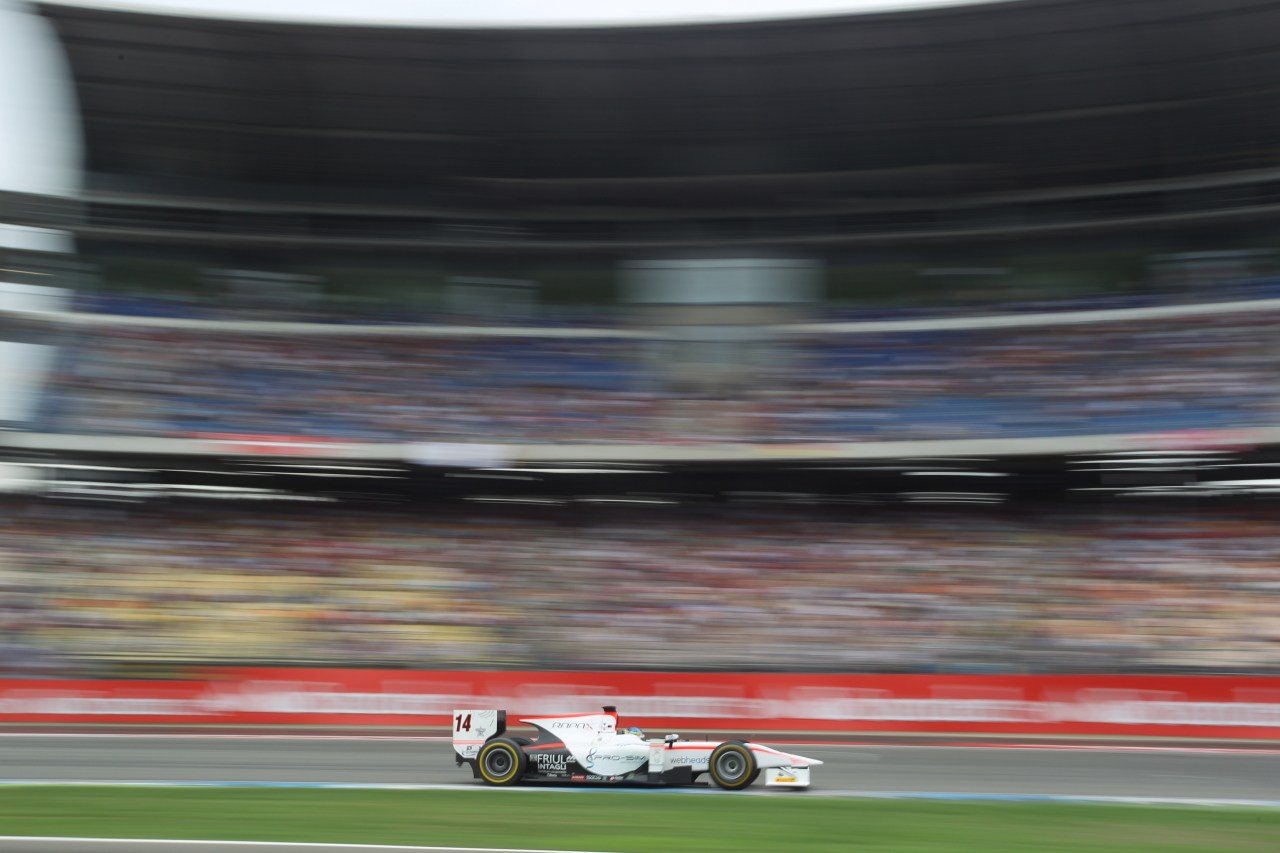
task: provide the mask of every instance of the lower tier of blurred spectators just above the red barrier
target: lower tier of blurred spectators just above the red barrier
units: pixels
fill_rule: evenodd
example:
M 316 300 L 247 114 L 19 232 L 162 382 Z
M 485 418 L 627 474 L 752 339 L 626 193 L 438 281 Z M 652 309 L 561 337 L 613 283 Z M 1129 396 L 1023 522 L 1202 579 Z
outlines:
M 1276 511 L 0 514 L 0 671 L 1280 669 Z

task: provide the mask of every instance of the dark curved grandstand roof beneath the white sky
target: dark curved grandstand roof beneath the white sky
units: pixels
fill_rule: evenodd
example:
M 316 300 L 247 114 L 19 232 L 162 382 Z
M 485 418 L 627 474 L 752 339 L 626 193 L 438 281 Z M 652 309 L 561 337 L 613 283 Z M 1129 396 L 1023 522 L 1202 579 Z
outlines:
M 1280 0 L 588 29 L 41 12 L 99 192 L 664 210 L 1280 167 Z

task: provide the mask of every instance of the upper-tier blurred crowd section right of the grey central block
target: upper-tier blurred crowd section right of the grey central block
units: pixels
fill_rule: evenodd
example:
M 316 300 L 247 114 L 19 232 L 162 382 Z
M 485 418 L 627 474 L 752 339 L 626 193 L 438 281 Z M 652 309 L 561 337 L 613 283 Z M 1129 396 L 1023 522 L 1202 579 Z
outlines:
M 826 338 L 756 400 L 756 434 L 983 438 L 1275 421 L 1274 318 Z

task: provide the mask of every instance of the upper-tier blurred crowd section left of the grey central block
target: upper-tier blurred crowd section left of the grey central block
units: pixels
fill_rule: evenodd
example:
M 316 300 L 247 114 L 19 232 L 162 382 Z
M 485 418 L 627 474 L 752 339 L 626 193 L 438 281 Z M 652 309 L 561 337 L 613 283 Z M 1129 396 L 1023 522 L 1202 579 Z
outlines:
M 63 355 L 55 432 L 628 441 L 652 401 L 608 342 L 109 332 Z

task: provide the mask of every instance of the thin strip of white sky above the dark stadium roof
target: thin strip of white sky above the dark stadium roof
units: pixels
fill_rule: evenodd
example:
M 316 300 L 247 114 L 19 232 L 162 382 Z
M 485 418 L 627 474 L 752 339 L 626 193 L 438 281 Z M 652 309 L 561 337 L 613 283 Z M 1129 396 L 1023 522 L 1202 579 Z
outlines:
M 52 0 L 255 20 L 563 26 L 797 18 L 1015 0 Z

